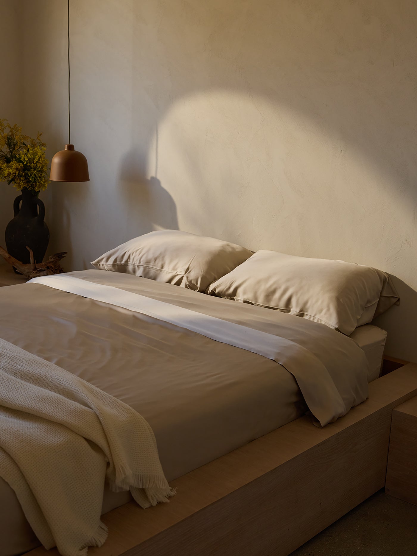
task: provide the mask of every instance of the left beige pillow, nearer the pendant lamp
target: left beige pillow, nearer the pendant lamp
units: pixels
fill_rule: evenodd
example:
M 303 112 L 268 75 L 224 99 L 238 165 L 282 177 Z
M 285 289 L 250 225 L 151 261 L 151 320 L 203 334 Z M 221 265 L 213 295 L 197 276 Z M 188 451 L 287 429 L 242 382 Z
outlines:
M 227 241 L 177 230 L 159 230 L 135 237 L 91 264 L 99 270 L 124 272 L 206 291 L 211 282 L 251 255 L 252 251 Z

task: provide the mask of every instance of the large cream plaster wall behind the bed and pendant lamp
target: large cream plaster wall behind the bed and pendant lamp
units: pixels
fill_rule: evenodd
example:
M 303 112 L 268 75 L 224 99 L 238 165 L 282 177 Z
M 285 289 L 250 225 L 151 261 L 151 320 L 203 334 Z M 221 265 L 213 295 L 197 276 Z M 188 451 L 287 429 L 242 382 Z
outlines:
M 69 269 L 158 227 L 386 270 L 417 361 L 417 4 L 71 0 L 72 142 L 45 196 Z M 24 123 L 66 133 L 66 2 L 26 0 Z

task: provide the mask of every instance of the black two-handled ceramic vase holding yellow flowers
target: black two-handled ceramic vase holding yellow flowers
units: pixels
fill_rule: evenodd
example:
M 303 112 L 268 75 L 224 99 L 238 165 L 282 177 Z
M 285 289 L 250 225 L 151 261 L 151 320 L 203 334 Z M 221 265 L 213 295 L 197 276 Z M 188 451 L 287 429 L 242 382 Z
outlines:
M 22 203 L 22 204 L 21 204 Z M 39 211 L 38 211 L 39 209 Z M 45 206 L 27 187 L 22 187 L 22 195 L 14 199 L 14 218 L 6 227 L 6 247 L 9 255 L 18 261 L 30 262 L 29 251 L 33 251 L 35 262 L 42 262 L 48 247 L 49 230 L 43 221 Z M 16 269 L 15 269 L 16 272 Z

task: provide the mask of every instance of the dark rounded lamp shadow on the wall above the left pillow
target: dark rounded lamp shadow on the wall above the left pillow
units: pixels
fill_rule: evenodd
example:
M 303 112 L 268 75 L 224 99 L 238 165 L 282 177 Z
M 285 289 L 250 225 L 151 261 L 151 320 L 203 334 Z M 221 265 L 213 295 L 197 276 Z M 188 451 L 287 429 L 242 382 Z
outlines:
M 156 176 L 146 177 L 146 162 L 139 152 L 130 151 L 123 158 L 118 183 L 127 200 L 131 237 L 155 229 L 178 230 L 175 201 Z

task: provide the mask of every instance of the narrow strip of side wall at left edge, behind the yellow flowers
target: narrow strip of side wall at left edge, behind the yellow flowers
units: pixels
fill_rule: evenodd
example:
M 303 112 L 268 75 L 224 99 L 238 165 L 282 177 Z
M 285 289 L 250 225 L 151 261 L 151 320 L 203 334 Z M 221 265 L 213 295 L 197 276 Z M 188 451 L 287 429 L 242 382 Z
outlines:
M 0 0 L 0 118 L 22 125 L 22 43 L 19 1 Z M 3 230 L 13 217 L 13 198 L 17 191 L 0 183 L 0 245 Z M 4 261 L 0 260 L 0 264 Z

